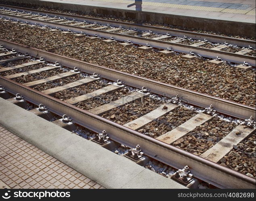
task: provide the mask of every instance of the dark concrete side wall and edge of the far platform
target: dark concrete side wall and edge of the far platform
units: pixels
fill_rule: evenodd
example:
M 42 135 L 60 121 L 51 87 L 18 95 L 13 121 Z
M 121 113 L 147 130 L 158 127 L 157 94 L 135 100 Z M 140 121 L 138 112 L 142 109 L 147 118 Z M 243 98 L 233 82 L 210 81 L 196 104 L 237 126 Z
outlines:
M 170 25 L 176 25 L 181 27 L 202 29 L 207 31 L 213 31 L 215 33 L 225 33 L 228 35 L 246 35 L 247 37 L 255 37 L 255 21 L 239 20 L 232 21 L 232 18 L 206 18 L 189 15 L 189 14 L 178 14 L 172 12 L 149 12 L 149 11 L 136 11 L 129 9 L 120 9 L 120 8 L 108 8 L 101 6 L 88 6 L 88 5 L 79 5 L 79 4 L 68 4 L 61 2 L 49 2 L 44 0 L 3 0 L 2 2 L 17 2 L 17 3 L 26 3 L 33 4 L 37 6 L 48 6 L 50 8 L 58 9 L 67 9 L 74 11 L 86 11 L 94 12 L 95 14 L 105 14 L 113 15 L 117 17 L 125 17 L 138 19 L 142 21 L 150 21 L 155 23 L 164 23 Z M 7 3 L 8 4 L 8 3 Z M 245 31 L 246 30 L 246 31 Z

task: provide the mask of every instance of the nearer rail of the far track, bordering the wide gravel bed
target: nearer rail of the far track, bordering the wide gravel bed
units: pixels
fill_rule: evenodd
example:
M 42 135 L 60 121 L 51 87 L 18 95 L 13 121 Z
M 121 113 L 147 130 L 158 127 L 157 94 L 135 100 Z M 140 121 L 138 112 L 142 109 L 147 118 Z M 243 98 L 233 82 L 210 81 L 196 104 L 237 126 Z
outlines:
M 141 45 L 146 45 L 148 43 L 152 47 L 160 48 L 160 49 L 167 49 L 168 47 L 171 47 L 174 51 L 188 53 L 188 54 L 190 53 L 190 51 L 193 51 L 193 52 L 201 55 L 202 57 L 208 57 L 208 58 L 212 58 L 212 59 L 216 59 L 216 57 L 218 56 L 225 61 L 234 62 L 234 63 L 242 64 L 244 61 L 246 61 L 251 66 L 256 66 L 256 58 L 252 57 L 250 55 L 240 55 L 240 54 L 235 54 L 235 53 L 231 53 L 231 52 L 207 49 L 207 48 L 203 48 L 203 47 L 193 47 L 191 45 L 172 43 L 169 41 L 159 41 L 159 40 L 155 40 L 155 39 L 148 39 L 148 38 L 143 38 L 143 37 L 138 37 L 138 36 L 124 35 L 121 33 L 112 33 L 112 32 L 110 33 L 107 31 L 94 30 L 94 29 L 90 29 L 90 28 L 76 27 L 76 26 L 72 26 L 72 25 L 64 25 L 64 24 L 59 24 L 59 23 L 52 23 L 52 22 L 48 22 L 48 21 L 46 22 L 46 21 L 42 21 L 42 20 L 25 18 L 25 17 L 21 17 L 21 16 L 13 16 L 13 15 L 9 15 L 9 14 L 1 14 L 1 16 L 5 16 L 6 18 L 11 18 L 12 20 L 15 20 L 15 21 L 17 21 L 19 19 L 20 21 L 27 21 L 28 23 L 31 23 L 31 24 L 37 23 L 40 26 L 48 25 L 48 27 L 51 27 L 54 29 L 56 27 L 59 27 L 60 29 L 65 30 L 65 31 L 67 31 L 68 29 L 70 29 L 71 31 L 76 32 L 76 33 L 81 33 L 81 31 L 83 31 L 87 35 L 94 36 L 95 34 L 97 34 L 99 37 L 108 38 L 108 39 L 113 37 L 117 41 L 130 40 L 130 41 L 132 41 L 132 43 L 141 44 Z

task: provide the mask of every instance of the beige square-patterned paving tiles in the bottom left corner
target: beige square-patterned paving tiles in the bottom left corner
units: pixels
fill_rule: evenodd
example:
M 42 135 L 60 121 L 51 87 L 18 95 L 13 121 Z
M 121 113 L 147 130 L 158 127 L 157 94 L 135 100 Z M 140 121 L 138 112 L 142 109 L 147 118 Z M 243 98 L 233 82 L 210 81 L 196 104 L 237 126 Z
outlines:
M 2 126 L 0 153 L 0 180 L 12 189 L 104 189 Z

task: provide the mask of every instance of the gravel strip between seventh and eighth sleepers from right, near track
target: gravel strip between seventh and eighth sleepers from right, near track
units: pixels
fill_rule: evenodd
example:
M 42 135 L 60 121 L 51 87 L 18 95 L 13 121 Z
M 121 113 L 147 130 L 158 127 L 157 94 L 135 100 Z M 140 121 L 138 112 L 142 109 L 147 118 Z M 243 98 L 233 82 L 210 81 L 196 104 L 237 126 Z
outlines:
M 47 71 L 43 71 L 40 73 L 34 73 L 34 74 L 25 75 L 25 76 L 22 75 L 21 77 L 13 79 L 13 81 L 23 84 L 23 83 L 27 83 L 27 82 L 41 80 L 41 79 L 44 79 L 44 78 L 47 78 L 50 76 L 54 76 L 54 75 L 58 75 L 58 74 L 61 74 L 64 72 L 65 71 L 63 71 L 62 69 L 47 70 Z

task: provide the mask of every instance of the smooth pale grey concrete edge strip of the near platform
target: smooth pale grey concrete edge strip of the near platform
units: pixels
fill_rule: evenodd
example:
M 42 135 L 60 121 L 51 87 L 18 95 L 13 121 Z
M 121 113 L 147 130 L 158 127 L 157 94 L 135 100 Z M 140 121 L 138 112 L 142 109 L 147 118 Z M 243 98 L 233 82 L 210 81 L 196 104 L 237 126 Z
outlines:
M 40 152 L 39 150 L 45 152 L 47 155 L 43 156 L 46 158 L 50 156 L 56 158 L 63 162 L 63 164 L 86 175 L 88 178 L 107 189 L 186 189 L 186 187 L 176 183 L 174 180 L 156 174 L 125 157 L 119 156 L 99 146 L 97 143 L 75 135 L 54 123 L 38 117 L 34 113 L 10 103 L 8 100 L 0 98 L 0 105 L 0 125 L 2 125 L 2 127 L 8 129 L 11 133 L 18 135 L 20 137 L 19 140 L 22 141 L 23 139 L 25 144 L 28 142 L 34 145 L 35 150 L 38 148 L 38 152 Z M 11 133 L 8 133 L 6 136 L 8 142 L 3 143 L 8 144 L 9 141 L 13 142 L 13 139 L 11 139 L 12 137 L 9 138 Z M 17 148 L 22 147 L 23 146 L 20 145 Z M 9 152 L 7 150 L 7 158 L 9 154 L 12 153 L 13 149 L 15 149 L 15 147 L 12 147 Z M 25 152 L 24 150 L 22 151 Z M 33 154 L 33 151 L 27 151 L 25 156 L 26 154 Z M 35 156 L 37 157 L 38 155 Z M 33 162 L 34 161 L 32 161 L 32 164 Z M 13 169 L 11 164 L 12 163 L 6 168 L 7 170 Z M 57 164 L 57 166 L 58 165 L 59 164 Z M 64 170 L 65 169 L 63 169 L 63 171 Z M 58 170 L 57 173 L 59 173 Z M 86 184 L 88 185 L 88 183 Z

